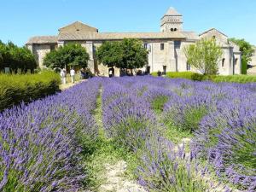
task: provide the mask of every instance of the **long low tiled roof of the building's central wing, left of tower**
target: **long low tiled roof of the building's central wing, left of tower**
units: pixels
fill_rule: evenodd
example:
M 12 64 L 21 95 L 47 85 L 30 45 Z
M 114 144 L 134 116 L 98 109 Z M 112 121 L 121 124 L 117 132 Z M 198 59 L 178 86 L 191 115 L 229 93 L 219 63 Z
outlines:
M 60 32 L 58 40 L 119 40 L 123 38 L 186 38 L 183 32 Z

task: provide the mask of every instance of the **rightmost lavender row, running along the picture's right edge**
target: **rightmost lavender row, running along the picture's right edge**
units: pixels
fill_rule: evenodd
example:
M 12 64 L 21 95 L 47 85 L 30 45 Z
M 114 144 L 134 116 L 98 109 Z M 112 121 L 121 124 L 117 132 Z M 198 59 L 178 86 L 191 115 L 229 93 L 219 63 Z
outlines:
M 256 84 L 183 81 L 164 108 L 172 125 L 195 133 L 191 151 L 219 178 L 256 190 Z

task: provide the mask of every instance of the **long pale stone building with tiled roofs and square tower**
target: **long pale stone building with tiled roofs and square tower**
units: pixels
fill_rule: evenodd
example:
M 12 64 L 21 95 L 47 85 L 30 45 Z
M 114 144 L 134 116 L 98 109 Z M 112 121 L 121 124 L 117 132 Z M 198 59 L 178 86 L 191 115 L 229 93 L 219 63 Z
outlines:
M 223 58 L 218 63 L 219 74 L 241 73 L 241 52 L 236 44 L 229 42 L 224 33 L 214 28 L 201 34 L 183 31 L 183 15 L 173 8 L 168 9 L 161 18 L 160 32 L 98 32 L 95 27 L 77 21 L 60 28 L 57 36 L 30 38 L 26 46 L 36 55 L 38 66 L 43 67 L 44 56 L 49 51 L 68 43 L 82 44 L 90 54 L 91 72 L 108 75 L 108 68 L 96 61 L 96 48 L 104 41 L 119 41 L 124 38 L 138 38 L 143 41 L 144 47 L 148 49 L 148 66 L 143 70 L 150 73 L 195 71 L 187 63 L 183 47 L 195 44 L 201 38 L 215 38 L 224 49 Z

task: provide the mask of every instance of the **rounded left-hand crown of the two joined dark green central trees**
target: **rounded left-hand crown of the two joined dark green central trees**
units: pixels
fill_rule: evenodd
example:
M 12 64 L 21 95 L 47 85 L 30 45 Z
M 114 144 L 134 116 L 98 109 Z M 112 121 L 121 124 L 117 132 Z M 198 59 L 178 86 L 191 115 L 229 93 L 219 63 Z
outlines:
M 96 58 L 104 66 L 115 67 L 122 61 L 121 44 L 118 41 L 104 42 L 96 51 Z

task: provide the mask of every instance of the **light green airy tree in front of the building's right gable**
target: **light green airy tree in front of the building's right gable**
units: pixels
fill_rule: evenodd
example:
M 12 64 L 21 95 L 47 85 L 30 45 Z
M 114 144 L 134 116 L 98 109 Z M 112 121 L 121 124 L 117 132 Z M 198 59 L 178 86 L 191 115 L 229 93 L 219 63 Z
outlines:
M 218 62 L 223 50 L 215 39 L 201 39 L 183 49 L 190 66 L 197 68 L 205 74 L 218 73 Z

